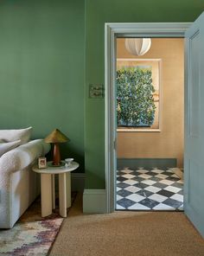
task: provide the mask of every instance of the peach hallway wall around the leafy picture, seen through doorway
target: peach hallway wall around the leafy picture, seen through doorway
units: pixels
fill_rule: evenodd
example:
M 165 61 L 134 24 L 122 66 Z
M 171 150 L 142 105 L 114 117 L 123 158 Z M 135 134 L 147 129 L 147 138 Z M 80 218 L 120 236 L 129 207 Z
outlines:
M 184 40 L 153 38 L 143 56 L 134 56 L 117 39 L 118 58 L 162 59 L 162 112 L 160 132 L 118 132 L 118 158 L 177 158 L 183 164 Z

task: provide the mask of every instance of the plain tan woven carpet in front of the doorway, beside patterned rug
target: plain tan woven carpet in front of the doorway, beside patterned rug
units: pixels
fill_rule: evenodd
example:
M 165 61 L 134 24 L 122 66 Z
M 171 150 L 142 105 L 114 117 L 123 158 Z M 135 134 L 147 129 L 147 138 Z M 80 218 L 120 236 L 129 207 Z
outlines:
M 203 256 L 204 240 L 181 212 L 82 214 L 77 196 L 51 256 Z

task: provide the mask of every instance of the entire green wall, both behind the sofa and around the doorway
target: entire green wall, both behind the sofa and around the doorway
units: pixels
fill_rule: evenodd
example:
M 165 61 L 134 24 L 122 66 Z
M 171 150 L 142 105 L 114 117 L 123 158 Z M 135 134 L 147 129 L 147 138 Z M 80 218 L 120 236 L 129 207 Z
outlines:
M 83 171 L 85 154 L 86 189 L 104 189 L 105 100 L 88 86 L 104 84 L 105 22 L 193 22 L 202 10 L 203 0 L 2 0 L 0 129 L 61 129 L 62 157 Z

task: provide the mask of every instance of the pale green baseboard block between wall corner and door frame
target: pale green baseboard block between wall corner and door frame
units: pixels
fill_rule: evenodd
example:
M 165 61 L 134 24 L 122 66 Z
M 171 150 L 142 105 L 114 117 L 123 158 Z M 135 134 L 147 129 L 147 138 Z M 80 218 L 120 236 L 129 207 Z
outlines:
M 105 189 L 85 189 L 83 195 L 83 212 L 86 214 L 106 213 Z

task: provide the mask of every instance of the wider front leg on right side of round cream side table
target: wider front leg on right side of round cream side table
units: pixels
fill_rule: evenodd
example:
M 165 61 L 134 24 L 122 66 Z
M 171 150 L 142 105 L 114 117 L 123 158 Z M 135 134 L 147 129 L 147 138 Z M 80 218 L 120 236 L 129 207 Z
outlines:
M 59 174 L 59 201 L 60 214 L 67 217 L 67 189 L 66 189 L 66 173 Z

